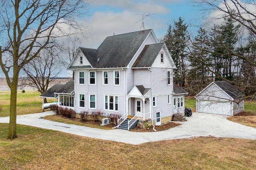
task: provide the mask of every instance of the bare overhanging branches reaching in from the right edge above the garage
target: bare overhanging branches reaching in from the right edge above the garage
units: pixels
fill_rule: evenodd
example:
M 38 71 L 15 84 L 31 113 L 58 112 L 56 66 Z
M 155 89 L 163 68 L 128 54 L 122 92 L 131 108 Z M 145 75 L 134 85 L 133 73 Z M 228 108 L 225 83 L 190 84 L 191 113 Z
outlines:
M 196 6 L 203 6 L 203 11 L 209 12 L 212 15 L 203 15 L 208 16 L 210 18 L 207 18 L 210 21 L 224 21 L 225 18 L 231 18 L 234 20 L 234 24 L 239 24 L 243 32 L 243 38 L 246 39 L 246 36 L 253 36 L 256 37 L 256 3 L 253 1 L 240 1 L 240 0 L 193 0 L 193 2 L 196 4 Z M 195 46 L 192 42 L 192 44 Z M 213 55 L 219 55 L 219 56 L 235 56 L 239 61 L 239 63 L 244 63 L 248 66 L 251 66 L 251 68 L 254 68 L 256 66 L 256 60 L 255 57 L 252 58 L 248 57 L 247 55 L 244 55 L 246 53 L 246 47 L 247 44 L 244 46 L 238 46 L 238 44 L 234 44 L 235 48 L 229 48 L 229 46 L 226 46 L 225 44 L 221 44 L 222 48 L 224 50 L 222 52 L 214 51 L 213 49 L 203 49 L 205 52 L 209 52 Z M 198 47 L 200 48 L 200 47 Z M 237 50 L 239 48 L 239 50 Z M 197 57 L 197 56 L 194 56 Z M 201 61 L 203 64 L 204 61 Z M 238 63 L 238 62 L 237 62 Z M 207 64 L 205 64 L 207 66 Z M 216 75 L 218 78 L 222 80 L 226 80 L 230 82 L 231 84 L 235 85 L 236 87 L 242 87 L 244 86 L 252 86 L 252 84 L 248 83 L 250 81 L 239 81 L 239 80 L 228 80 L 225 79 L 222 75 L 218 74 L 218 72 L 215 72 L 213 69 L 208 67 L 208 70 L 212 72 L 212 74 Z M 253 75 L 253 74 L 250 74 Z M 241 74 L 241 76 L 244 76 Z M 255 77 L 254 77 L 255 78 Z M 253 85 L 255 86 L 255 85 Z M 255 89 L 255 87 L 252 87 Z M 256 97 L 256 91 L 249 94 L 245 98 L 255 98 Z

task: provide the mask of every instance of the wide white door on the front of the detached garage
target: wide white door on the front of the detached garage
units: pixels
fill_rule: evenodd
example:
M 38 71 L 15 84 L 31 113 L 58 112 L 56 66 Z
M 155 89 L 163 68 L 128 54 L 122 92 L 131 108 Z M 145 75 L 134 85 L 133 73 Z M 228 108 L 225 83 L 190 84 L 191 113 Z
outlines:
M 230 102 L 199 100 L 198 112 L 230 115 Z

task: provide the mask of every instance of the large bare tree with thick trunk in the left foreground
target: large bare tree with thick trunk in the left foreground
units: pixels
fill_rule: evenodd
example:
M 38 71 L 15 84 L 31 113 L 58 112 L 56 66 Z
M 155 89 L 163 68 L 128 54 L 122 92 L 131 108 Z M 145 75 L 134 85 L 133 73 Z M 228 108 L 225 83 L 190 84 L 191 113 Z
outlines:
M 86 14 L 87 6 L 85 0 L 0 1 L 0 66 L 11 90 L 9 139 L 17 138 L 20 70 L 38 57 L 42 49 L 50 47 L 55 38 L 83 32 L 76 20 Z

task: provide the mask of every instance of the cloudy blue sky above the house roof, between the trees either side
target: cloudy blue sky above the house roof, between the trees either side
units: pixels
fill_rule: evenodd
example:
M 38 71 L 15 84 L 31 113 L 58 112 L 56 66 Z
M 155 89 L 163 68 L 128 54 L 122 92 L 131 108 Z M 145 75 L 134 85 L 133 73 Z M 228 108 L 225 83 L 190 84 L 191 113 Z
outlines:
M 184 22 L 195 24 L 200 12 L 190 3 L 190 0 L 93 0 L 89 6 L 89 15 L 84 23 L 87 27 L 87 38 L 83 38 L 82 47 L 98 48 L 101 42 L 114 33 L 123 34 L 153 29 L 157 38 L 162 38 L 168 29 L 168 24 L 177 21 L 179 17 Z

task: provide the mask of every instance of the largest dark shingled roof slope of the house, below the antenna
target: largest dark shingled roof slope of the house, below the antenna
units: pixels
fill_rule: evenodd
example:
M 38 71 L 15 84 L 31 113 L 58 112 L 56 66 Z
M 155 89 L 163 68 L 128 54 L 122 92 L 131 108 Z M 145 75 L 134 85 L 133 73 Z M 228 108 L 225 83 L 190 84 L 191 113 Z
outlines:
M 98 47 L 97 68 L 128 66 L 150 32 L 151 29 L 108 36 Z

